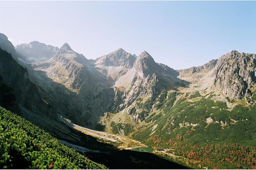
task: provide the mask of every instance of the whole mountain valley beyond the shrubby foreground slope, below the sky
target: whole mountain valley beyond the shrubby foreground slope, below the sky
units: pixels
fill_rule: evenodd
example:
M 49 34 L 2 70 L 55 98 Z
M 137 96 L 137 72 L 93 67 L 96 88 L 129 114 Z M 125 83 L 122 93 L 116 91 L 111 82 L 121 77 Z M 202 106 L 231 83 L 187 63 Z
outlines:
M 233 50 L 175 70 L 146 51 L 119 48 L 93 60 L 68 43 L 14 48 L 4 34 L 0 48 L 0 105 L 92 161 L 129 169 L 256 168 L 255 54 Z

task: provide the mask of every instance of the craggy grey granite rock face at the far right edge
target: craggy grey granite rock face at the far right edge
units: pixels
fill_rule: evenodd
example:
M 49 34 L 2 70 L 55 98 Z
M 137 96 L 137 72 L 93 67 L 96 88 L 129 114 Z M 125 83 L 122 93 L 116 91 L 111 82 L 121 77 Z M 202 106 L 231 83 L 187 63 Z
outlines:
M 256 81 L 256 55 L 232 51 L 219 58 L 215 71 L 214 89 L 233 100 L 250 95 L 250 88 Z

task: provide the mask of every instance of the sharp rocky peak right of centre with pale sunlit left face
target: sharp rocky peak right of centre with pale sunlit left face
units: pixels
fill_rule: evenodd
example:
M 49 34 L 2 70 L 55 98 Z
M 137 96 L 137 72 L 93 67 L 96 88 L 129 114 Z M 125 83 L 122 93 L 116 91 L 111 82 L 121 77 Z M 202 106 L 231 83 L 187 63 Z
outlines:
M 156 63 L 150 54 L 143 52 L 135 60 L 133 68 L 120 77 L 115 86 L 126 89 L 124 101 L 129 106 L 138 96 L 156 99 L 161 90 L 177 90 L 177 87 L 185 87 L 187 82 L 178 79 L 177 76 L 177 71 Z

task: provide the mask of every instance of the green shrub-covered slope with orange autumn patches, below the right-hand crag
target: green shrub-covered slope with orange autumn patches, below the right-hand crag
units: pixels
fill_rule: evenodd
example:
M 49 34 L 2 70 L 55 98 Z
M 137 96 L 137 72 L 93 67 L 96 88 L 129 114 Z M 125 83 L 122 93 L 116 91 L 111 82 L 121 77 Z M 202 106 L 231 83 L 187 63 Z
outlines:
M 256 105 L 230 109 L 214 94 L 201 95 L 169 92 L 134 139 L 170 149 L 190 167 L 256 168 Z

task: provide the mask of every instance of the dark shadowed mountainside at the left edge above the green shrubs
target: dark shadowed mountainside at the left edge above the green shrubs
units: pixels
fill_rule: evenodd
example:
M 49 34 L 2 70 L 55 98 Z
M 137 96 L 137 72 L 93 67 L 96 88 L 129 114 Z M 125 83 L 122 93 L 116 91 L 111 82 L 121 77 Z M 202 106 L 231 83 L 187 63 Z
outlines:
M 28 78 L 27 68 L 20 66 L 8 52 L 0 49 L 0 101 L 11 111 L 24 107 L 34 113 L 52 117 L 51 109 Z

